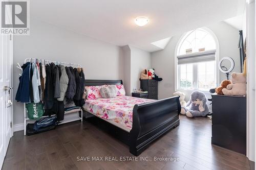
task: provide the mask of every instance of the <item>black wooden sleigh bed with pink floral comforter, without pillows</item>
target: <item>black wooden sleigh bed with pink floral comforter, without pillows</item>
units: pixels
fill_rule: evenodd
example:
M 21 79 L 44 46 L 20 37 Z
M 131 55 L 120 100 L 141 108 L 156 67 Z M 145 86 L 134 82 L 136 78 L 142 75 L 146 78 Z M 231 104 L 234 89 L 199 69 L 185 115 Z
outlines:
M 86 86 L 112 84 L 122 84 L 122 80 L 86 80 Z M 130 152 L 138 156 L 160 136 L 179 126 L 181 106 L 179 96 L 162 100 L 117 96 L 86 100 L 83 110 L 93 115 L 86 117 L 89 122 L 129 145 Z

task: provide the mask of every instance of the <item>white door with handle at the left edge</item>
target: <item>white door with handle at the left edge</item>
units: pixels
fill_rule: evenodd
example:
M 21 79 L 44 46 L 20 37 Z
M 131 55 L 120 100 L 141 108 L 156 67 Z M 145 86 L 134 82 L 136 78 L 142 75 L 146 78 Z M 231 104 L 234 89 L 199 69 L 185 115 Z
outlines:
M 12 35 L 0 35 L 0 168 L 12 136 Z M 10 102 L 11 101 L 11 102 Z M 9 102 L 9 103 L 8 103 Z

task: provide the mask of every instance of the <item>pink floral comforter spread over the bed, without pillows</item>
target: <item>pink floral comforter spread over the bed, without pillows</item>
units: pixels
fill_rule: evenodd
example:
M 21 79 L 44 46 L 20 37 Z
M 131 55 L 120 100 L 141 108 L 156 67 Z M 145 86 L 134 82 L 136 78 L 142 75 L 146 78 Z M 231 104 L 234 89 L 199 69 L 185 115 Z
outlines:
M 151 101 L 154 100 L 122 95 L 116 98 L 86 100 L 83 109 L 101 118 L 113 120 L 124 127 L 132 128 L 134 105 Z

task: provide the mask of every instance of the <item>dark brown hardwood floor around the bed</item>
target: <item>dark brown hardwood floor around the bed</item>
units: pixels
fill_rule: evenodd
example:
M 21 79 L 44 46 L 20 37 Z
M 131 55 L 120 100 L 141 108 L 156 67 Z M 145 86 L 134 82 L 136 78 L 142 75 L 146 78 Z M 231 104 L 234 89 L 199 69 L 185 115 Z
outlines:
M 129 147 L 94 125 L 73 122 L 45 133 L 15 132 L 3 169 L 249 169 L 246 156 L 211 145 L 209 118 L 180 116 L 180 126 L 139 157 L 152 161 L 77 161 L 86 156 L 133 156 Z M 179 161 L 154 161 L 174 157 Z

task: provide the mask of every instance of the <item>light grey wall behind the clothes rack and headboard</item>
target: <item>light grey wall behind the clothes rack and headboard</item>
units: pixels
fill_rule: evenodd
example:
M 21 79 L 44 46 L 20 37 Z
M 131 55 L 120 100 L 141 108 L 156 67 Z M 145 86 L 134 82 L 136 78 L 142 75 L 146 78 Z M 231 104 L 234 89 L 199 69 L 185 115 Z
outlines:
M 123 79 L 121 47 L 32 19 L 29 36 L 15 36 L 13 45 L 14 96 L 18 87 L 16 63 L 38 58 L 79 63 L 86 79 Z M 23 104 L 14 102 L 14 125 L 24 121 Z

